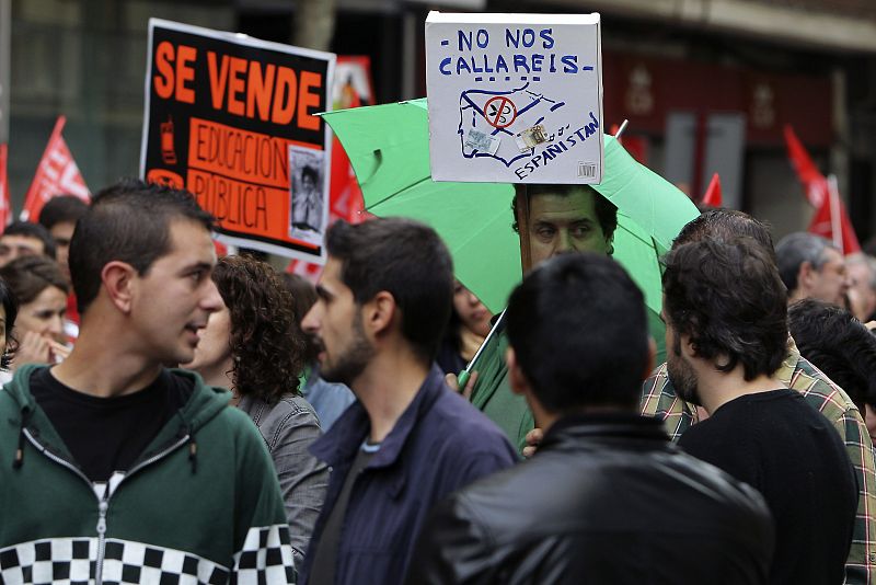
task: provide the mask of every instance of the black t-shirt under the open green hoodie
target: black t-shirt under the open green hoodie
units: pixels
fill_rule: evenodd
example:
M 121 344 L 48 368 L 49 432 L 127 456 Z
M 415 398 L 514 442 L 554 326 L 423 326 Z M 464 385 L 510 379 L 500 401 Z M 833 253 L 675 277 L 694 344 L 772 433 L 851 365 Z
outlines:
M 31 375 L 31 393 L 92 482 L 125 472 L 192 397 L 194 382 L 162 370 L 132 394 L 97 398 L 68 388 L 48 368 Z

